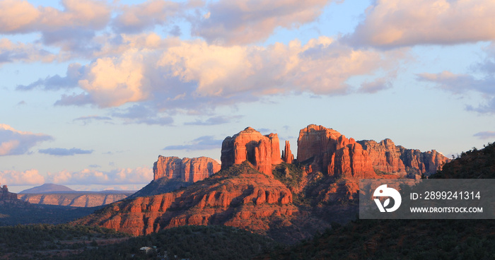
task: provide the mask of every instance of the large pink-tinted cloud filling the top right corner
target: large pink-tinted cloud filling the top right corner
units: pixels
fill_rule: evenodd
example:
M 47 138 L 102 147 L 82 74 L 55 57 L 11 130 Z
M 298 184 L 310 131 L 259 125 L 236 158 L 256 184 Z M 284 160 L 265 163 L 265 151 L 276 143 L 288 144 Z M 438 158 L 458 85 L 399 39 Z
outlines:
M 347 35 L 353 45 L 403 47 L 495 40 L 495 1 L 378 0 Z

